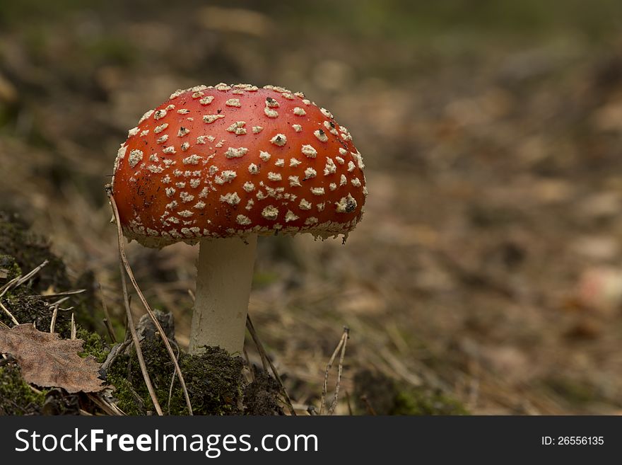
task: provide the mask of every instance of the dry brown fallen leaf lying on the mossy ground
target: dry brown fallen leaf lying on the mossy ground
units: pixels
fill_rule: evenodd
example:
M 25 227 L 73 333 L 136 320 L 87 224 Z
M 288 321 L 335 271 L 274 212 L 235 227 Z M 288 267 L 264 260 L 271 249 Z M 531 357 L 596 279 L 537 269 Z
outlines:
M 101 391 L 105 386 L 98 379 L 100 364 L 93 357 L 78 355 L 82 344 L 83 340 L 42 333 L 31 323 L 10 329 L 0 326 L 0 353 L 15 357 L 26 382 L 61 387 L 69 393 Z

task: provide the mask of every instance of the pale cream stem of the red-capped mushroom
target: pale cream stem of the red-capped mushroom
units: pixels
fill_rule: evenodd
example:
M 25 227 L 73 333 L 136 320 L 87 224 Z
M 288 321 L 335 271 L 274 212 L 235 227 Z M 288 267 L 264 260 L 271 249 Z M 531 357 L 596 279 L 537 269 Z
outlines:
M 189 352 L 204 345 L 242 354 L 257 235 L 199 243 Z

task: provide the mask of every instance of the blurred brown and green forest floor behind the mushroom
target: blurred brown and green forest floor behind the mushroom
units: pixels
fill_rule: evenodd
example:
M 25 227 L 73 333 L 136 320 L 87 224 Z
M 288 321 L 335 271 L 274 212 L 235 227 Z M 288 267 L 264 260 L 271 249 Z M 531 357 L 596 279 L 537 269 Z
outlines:
M 368 411 L 421 390 L 620 413 L 622 2 L 0 0 L 0 209 L 119 320 L 117 148 L 175 89 L 221 81 L 305 92 L 366 164 L 345 246 L 260 244 L 250 314 L 296 403 L 347 325 L 342 393 L 380 396 Z M 197 248 L 128 254 L 187 344 Z

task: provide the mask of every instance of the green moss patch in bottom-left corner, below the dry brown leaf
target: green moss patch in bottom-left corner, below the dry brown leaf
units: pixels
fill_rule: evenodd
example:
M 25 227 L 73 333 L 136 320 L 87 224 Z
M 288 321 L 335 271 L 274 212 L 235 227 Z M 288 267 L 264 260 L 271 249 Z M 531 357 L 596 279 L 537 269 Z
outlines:
M 0 415 L 36 415 L 44 401 L 45 393 L 30 389 L 16 363 L 0 367 Z

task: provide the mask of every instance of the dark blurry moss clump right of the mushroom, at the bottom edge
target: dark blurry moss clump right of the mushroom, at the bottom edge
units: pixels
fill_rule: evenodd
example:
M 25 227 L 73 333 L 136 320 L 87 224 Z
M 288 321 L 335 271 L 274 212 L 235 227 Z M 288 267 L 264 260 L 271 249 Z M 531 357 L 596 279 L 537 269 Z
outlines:
M 460 401 L 438 389 L 403 386 L 384 374 L 362 370 L 354 377 L 359 413 L 377 415 L 469 415 Z

